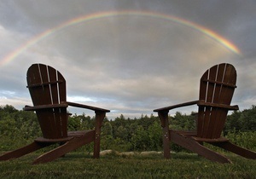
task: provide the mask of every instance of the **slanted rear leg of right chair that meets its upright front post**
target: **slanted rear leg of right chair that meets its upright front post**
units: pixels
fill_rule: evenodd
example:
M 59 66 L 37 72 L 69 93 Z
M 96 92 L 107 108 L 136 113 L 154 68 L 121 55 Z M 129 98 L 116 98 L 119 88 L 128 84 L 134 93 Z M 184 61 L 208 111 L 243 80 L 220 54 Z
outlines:
M 181 147 L 185 147 L 194 153 L 198 153 L 202 157 L 206 159 L 210 159 L 215 162 L 219 163 L 232 163 L 230 159 L 227 159 L 223 155 L 219 153 L 215 153 L 212 150 L 208 149 L 207 147 L 202 146 L 199 142 L 187 137 L 181 136 L 177 134 L 177 132 L 170 131 L 171 141 L 180 145 Z

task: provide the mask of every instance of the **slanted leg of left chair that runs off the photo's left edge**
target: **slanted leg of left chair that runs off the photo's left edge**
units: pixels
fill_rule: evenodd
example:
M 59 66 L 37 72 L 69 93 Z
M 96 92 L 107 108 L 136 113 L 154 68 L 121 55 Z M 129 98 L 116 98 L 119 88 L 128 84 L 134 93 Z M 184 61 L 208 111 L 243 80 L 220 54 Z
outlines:
M 9 159 L 19 158 L 23 155 L 26 155 L 27 153 L 32 153 L 40 148 L 47 147 L 47 146 L 49 146 L 49 143 L 39 143 L 37 141 L 33 141 L 31 144 L 25 147 L 21 147 L 9 153 L 3 154 L 2 156 L 0 156 L 0 160 L 9 160 Z

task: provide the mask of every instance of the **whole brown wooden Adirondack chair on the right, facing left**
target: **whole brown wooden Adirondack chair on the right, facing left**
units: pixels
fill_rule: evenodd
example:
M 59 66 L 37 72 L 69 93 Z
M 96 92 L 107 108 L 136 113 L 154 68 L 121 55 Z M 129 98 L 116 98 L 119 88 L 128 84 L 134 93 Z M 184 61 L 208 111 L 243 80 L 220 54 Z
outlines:
M 230 106 L 235 88 L 235 67 L 226 63 L 219 64 L 212 66 L 201 77 L 198 101 L 155 109 L 154 112 L 158 113 L 163 129 L 164 157 L 166 159 L 170 158 L 170 141 L 172 141 L 181 147 L 219 163 L 231 163 L 231 161 L 223 155 L 204 147 L 203 142 L 222 147 L 247 159 L 256 159 L 256 153 L 238 147 L 227 138 L 221 136 L 228 111 L 238 110 L 238 106 Z M 169 130 L 169 110 L 195 104 L 199 107 L 196 115 L 196 131 Z

